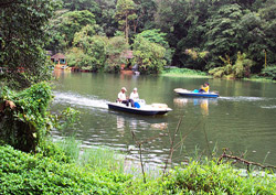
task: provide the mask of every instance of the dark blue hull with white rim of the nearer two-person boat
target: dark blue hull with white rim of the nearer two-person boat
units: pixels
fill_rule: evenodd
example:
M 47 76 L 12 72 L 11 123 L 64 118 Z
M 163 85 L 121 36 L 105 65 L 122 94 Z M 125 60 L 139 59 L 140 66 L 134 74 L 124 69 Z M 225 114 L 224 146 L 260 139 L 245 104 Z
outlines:
M 109 102 L 107 104 L 108 108 L 112 110 L 117 110 L 117 111 L 124 111 L 124 112 L 129 112 L 129 113 L 136 113 L 136 115 L 144 115 L 144 116 L 155 116 L 155 115 L 164 115 L 168 111 L 171 111 L 170 108 L 163 108 L 163 109 L 144 109 L 144 108 L 132 108 L 132 107 L 127 107 L 123 104 L 114 104 Z

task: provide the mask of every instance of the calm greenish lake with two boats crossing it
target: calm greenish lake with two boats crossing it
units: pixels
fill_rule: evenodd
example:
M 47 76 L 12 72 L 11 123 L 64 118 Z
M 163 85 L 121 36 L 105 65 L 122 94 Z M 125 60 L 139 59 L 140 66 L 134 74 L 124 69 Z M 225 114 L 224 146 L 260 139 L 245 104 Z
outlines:
M 248 161 L 276 164 L 275 84 L 70 72 L 55 72 L 55 77 L 52 111 L 66 107 L 81 111 L 79 124 L 53 131 L 55 139 L 74 134 L 83 147 L 110 147 L 135 160 L 139 159 L 136 143 L 142 142 L 144 159 L 159 165 L 169 156 L 171 140 L 173 164 L 193 155 L 220 155 L 224 148 Z M 219 98 L 183 98 L 173 91 L 195 89 L 204 82 L 220 91 Z M 137 87 L 147 104 L 167 104 L 173 110 L 157 117 L 108 110 L 106 102 L 115 101 L 121 87 L 128 95 Z

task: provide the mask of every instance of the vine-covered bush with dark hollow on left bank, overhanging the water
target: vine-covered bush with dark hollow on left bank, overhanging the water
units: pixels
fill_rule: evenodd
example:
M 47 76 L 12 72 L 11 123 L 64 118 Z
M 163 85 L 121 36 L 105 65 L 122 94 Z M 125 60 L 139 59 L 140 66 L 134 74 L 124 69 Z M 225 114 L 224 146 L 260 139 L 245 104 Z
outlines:
M 3 87 L 0 95 L 0 140 L 22 151 L 35 152 L 51 129 L 68 127 L 77 116 L 77 111 L 67 109 L 60 122 L 59 117 L 47 111 L 53 95 L 46 83 L 19 93 Z

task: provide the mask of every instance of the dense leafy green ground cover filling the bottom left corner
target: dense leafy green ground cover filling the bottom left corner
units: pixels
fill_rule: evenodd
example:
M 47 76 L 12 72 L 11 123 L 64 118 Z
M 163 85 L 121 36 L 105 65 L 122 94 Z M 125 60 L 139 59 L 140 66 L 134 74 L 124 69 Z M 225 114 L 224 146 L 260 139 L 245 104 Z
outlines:
M 0 147 L 0 194 L 120 194 L 129 176 Z

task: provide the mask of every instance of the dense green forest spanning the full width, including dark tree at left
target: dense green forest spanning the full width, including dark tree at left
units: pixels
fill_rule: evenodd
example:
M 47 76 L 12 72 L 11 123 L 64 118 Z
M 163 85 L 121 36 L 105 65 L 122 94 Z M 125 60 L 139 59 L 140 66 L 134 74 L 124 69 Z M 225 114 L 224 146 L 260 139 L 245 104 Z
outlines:
M 0 9 L 0 64 L 30 69 L 17 73 L 20 84 L 44 78 L 45 50 L 93 72 L 127 64 L 276 78 L 276 0 L 3 0 Z

